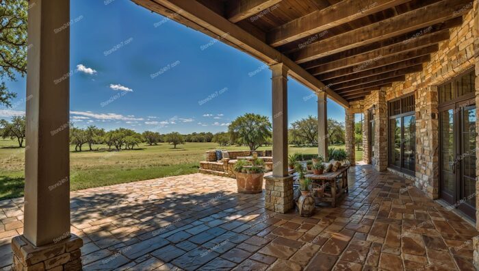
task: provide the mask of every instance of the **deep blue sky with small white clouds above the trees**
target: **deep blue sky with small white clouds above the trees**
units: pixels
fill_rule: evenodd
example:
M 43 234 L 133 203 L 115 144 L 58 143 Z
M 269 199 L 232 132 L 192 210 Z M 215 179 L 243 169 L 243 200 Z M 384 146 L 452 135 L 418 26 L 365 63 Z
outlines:
M 248 112 L 271 117 L 271 72 L 246 53 L 129 0 L 71 1 L 70 18 L 78 127 L 214 133 Z M 0 118 L 25 110 L 25 78 L 7 86 L 18 97 Z M 316 116 L 313 92 L 294 79 L 288 88 L 289 122 Z M 343 122 L 343 107 L 330 100 L 328 117 Z

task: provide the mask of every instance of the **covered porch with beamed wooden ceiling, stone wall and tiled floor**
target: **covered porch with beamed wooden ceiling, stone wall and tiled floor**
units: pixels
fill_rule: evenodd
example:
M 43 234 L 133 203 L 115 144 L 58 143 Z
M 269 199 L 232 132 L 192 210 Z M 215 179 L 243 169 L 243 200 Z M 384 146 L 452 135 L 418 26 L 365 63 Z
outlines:
M 273 156 L 266 190 L 218 198 L 219 191 L 231 188 L 226 179 L 187 175 L 177 177 L 183 178 L 181 184 L 172 178 L 73 193 L 70 204 L 69 30 L 53 31 L 70 21 L 70 6 L 63 0 L 31 0 L 25 212 L 16 210 L 11 220 L 20 222 L 14 225 L 2 220 L 4 238 L 20 235 L 12 241 L 15 269 L 79 270 L 83 265 L 104 270 L 142 263 L 186 270 L 222 265 L 473 269 L 477 232 L 433 200 L 442 198 L 454 210 L 467 207 L 469 218 L 476 218 L 477 0 L 133 1 L 268 64 Z M 288 77 L 318 97 L 319 155 L 328 156 L 328 99 L 346 110 L 346 149 L 353 164 L 354 114 L 366 116 L 363 157 L 371 166 L 352 168 L 350 194 L 339 207 L 322 208 L 313 218 L 292 210 Z M 448 125 L 458 127 L 455 119 L 465 116 L 462 133 L 458 128 L 445 132 L 443 120 L 454 118 Z M 406 117 L 413 127 L 404 127 Z M 398 127 L 392 126 L 396 118 Z M 439 148 L 446 136 L 455 145 L 450 153 L 448 144 Z M 209 184 L 208 191 L 198 194 L 198 179 Z M 59 182 L 65 184 L 51 189 Z M 276 188 L 279 195 L 270 196 Z M 109 195 L 111 189 L 118 192 Z M 110 208 L 108 213 L 118 194 L 128 198 L 118 203 L 126 211 L 115 214 L 117 209 Z M 22 203 L 5 205 L 15 209 Z M 5 221 L 10 222 L 7 212 Z

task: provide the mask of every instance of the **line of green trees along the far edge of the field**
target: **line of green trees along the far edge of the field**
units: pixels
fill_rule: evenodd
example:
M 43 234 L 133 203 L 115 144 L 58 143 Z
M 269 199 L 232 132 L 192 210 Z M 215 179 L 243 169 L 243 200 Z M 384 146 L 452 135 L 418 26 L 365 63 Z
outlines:
M 357 127 L 358 129 L 358 127 Z M 25 143 L 25 116 L 15 116 L 11 122 L 0 120 L 0 135 L 18 142 L 22 147 Z M 329 144 L 344 144 L 344 123 L 328 119 Z M 272 124 L 267 116 L 259 114 L 244 114 L 237 117 L 228 127 L 227 132 L 213 134 L 211 132 L 189 133 L 178 132 L 160 134 L 155 131 L 138 133 L 132 129 L 118 128 L 110 131 L 90 125 L 84 129 L 70 125 L 70 144 L 75 151 L 83 151 L 88 146 L 90 151 L 94 145 L 107 145 L 108 149 L 135 149 L 145 143 L 150 146 L 165 142 L 177 148 L 185 142 L 216 142 L 220 146 L 248 146 L 252 151 L 260 146 L 272 145 Z M 318 145 L 318 120 L 313 116 L 292 122 L 289 127 L 289 144 L 296 146 Z M 98 149 L 98 147 L 96 148 Z

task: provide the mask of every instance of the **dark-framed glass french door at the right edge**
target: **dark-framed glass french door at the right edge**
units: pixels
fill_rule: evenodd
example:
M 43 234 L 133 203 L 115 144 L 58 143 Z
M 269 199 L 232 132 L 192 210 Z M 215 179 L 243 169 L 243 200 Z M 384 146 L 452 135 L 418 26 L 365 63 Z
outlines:
M 441 198 L 476 218 L 476 105 L 474 99 L 439 109 Z

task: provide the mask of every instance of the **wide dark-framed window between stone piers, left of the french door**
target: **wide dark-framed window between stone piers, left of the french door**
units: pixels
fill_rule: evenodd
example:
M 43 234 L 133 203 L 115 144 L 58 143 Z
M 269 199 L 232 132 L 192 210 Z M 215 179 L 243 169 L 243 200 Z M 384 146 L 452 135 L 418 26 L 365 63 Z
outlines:
M 416 117 L 414 95 L 389 101 L 389 166 L 415 174 Z

